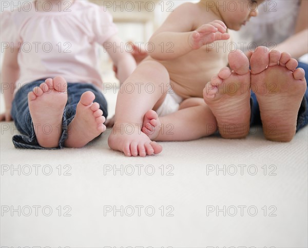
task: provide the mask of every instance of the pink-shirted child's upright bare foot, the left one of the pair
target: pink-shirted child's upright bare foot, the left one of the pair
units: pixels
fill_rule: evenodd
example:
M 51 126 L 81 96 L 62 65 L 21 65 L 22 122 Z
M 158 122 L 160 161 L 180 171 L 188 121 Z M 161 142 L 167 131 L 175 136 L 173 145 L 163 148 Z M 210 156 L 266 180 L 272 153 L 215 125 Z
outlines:
M 28 104 L 37 142 L 45 148 L 59 146 L 62 118 L 67 102 L 67 83 L 62 77 L 48 78 L 28 94 Z

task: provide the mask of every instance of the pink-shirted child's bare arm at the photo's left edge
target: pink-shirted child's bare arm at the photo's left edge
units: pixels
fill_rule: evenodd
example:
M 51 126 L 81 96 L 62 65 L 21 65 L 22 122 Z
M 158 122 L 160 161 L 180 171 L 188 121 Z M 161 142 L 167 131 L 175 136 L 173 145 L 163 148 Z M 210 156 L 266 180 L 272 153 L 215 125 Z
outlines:
M 20 67 L 17 63 L 18 49 L 11 48 L 5 51 L 3 65 L 1 69 L 1 87 L 4 93 L 5 112 L 1 114 L 0 121 L 11 121 L 11 108 L 13 101 L 14 86 L 19 78 Z

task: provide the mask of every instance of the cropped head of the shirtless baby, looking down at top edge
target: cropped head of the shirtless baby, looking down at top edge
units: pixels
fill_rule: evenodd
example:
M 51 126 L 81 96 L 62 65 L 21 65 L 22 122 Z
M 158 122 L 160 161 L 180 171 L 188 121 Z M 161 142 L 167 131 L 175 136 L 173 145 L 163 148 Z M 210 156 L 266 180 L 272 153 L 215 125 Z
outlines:
M 201 0 L 207 9 L 220 15 L 229 29 L 240 30 L 251 17 L 258 15 L 258 6 L 264 0 Z

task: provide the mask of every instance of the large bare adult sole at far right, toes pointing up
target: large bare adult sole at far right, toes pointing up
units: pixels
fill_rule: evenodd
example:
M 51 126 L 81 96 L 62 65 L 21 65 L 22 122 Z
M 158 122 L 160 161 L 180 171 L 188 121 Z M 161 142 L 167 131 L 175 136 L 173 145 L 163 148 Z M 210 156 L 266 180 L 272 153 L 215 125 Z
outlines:
M 251 88 L 259 102 L 263 133 L 268 140 L 291 141 L 306 91 L 305 72 L 288 53 L 258 47 L 251 57 Z

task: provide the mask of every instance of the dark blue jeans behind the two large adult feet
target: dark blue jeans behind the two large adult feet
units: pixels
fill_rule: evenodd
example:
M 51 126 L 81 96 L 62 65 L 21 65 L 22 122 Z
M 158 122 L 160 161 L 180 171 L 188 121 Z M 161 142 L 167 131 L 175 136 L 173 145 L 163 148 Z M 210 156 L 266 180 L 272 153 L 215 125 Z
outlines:
M 299 62 L 298 67 L 304 69 L 305 79 L 306 82 L 308 82 L 308 64 Z M 252 109 L 251 125 L 261 125 L 262 123 L 260 117 L 259 104 L 254 92 L 251 92 L 251 109 Z M 298 111 L 296 131 L 307 125 L 307 123 L 308 123 L 308 85 L 301 106 Z

